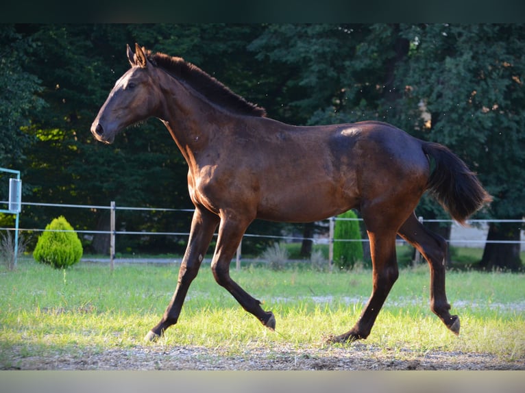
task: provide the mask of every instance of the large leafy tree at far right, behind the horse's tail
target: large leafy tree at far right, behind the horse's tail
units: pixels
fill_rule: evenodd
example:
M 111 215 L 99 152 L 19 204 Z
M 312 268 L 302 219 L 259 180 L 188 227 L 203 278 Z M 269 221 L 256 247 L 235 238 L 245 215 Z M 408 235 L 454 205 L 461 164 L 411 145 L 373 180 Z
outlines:
M 407 131 L 448 145 L 478 173 L 494 197 L 478 216 L 521 219 L 525 26 L 418 25 L 404 26 L 401 34 L 411 51 L 398 71 L 406 86 L 400 108 L 417 119 Z M 417 116 L 421 108 L 426 118 Z M 487 240 L 519 236 L 520 223 L 491 223 Z M 519 247 L 487 243 L 480 266 L 519 268 Z

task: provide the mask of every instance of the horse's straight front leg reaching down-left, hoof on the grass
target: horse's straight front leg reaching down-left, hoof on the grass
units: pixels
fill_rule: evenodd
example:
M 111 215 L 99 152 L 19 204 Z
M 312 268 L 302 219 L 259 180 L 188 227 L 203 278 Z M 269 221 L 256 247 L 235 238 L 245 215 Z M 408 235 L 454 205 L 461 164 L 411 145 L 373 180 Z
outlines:
M 146 340 L 156 341 L 171 325 L 175 325 L 188 293 L 191 281 L 197 277 L 199 267 L 208 250 L 213 233 L 219 224 L 219 217 L 207 210 L 195 209 L 191 222 L 190 237 L 184 258 L 180 264 L 179 278 L 175 293 L 158 324 L 146 335 Z

